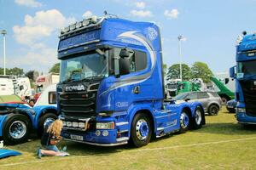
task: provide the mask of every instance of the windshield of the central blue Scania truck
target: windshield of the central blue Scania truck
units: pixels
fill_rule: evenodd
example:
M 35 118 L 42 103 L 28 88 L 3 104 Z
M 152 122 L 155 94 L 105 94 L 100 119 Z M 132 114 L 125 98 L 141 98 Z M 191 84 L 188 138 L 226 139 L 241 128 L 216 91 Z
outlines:
M 61 82 L 108 77 L 108 59 L 101 54 L 84 54 L 61 60 Z

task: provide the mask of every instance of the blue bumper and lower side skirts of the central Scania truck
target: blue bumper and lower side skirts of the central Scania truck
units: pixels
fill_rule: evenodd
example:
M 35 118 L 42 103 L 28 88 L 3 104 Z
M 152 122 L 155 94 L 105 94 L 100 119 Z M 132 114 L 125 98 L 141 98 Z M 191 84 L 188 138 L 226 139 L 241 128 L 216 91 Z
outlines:
M 131 136 L 131 122 L 134 116 L 138 111 L 149 111 L 151 116 L 154 118 L 154 135 L 156 137 L 164 136 L 168 133 L 177 132 L 180 129 L 180 115 L 184 108 L 187 108 L 191 111 L 191 118 L 195 119 L 195 108 L 197 106 L 201 107 L 201 111 L 203 111 L 203 107 L 199 102 L 189 102 L 182 103 L 179 105 L 171 104 L 165 105 L 165 111 L 154 111 L 150 105 L 136 105 L 132 106 L 131 111 L 128 113 L 124 112 L 116 112 L 113 113 L 112 116 L 96 116 L 96 122 L 115 122 L 115 128 L 111 130 L 102 129 L 96 130 L 100 132 L 100 135 L 96 135 L 96 131 L 76 131 L 69 133 L 67 129 L 62 129 L 61 135 L 64 139 L 69 141 L 75 141 L 79 143 L 85 144 L 93 144 L 93 145 L 101 145 L 101 146 L 114 146 L 120 144 L 127 144 L 128 140 Z M 116 117 L 119 117 L 117 119 Z M 121 118 L 120 118 L 121 117 Z M 126 119 L 125 119 L 126 117 Z M 64 119 L 62 117 L 61 119 Z M 203 112 L 202 122 L 205 124 L 205 115 Z M 103 131 L 108 131 L 108 136 L 103 136 Z M 124 135 L 117 137 L 118 132 L 123 132 Z M 83 136 L 83 140 L 75 140 L 71 139 L 71 135 L 79 135 Z

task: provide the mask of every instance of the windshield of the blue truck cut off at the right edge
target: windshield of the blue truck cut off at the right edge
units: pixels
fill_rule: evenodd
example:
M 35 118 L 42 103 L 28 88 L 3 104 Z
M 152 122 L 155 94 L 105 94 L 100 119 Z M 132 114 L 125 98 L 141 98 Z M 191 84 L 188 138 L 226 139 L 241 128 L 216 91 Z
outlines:
M 256 74 L 256 60 L 250 60 L 237 63 L 237 73 L 243 73 L 245 75 Z

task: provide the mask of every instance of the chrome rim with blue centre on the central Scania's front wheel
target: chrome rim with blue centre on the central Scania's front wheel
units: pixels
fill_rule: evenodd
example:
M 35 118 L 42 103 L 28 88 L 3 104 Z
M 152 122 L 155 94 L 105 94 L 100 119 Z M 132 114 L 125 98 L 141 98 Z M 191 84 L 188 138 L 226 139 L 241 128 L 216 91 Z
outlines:
M 136 125 L 137 139 L 144 140 L 148 137 L 149 127 L 148 122 L 144 119 L 140 119 Z

